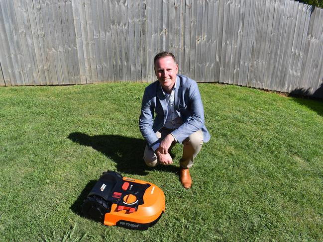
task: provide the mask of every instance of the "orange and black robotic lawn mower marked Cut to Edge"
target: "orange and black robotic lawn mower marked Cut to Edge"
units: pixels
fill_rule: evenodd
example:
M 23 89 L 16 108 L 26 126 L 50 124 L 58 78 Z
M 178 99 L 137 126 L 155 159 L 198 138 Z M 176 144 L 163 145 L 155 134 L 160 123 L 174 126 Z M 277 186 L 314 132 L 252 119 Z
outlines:
M 108 171 L 84 200 L 82 212 L 108 226 L 146 230 L 165 212 L 165 195 L 150 182 Z

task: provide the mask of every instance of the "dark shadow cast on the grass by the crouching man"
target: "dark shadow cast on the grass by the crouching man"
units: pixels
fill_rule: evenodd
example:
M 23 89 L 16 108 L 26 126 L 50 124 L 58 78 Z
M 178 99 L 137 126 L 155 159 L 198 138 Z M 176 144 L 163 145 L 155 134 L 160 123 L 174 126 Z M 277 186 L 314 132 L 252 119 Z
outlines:
M 158 165 L 154 168 L 146 166 L 142 159 L 146 142 L 143 139 L 130 138 L 119 135 L 94 135 L 75 132 L 68 138 L 83 146 L 90 146 L 101 152 L 116 163 L 117 171 L 121 173 L 146 175 L 147 170 L 157 169 L 177 172 L 174 165 Z

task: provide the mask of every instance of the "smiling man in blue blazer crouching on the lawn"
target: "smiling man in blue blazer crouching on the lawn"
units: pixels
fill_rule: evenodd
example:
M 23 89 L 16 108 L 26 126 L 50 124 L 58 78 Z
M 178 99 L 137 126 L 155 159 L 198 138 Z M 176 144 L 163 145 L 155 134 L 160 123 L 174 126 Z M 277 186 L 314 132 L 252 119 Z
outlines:
M 170 150 L 176 142 L 183 144 L 180 179 L 188 189 L 192 184 L 189 168 L 203 143 L 210 140 L 201 95 L 194 80 L 177 75 L 172 53 L 157 54 L 154 65 L 158 81 L 146 87 L 139 117 L 139 129 L 147 142 L 143 159 L 148 166 L 171 164 Z

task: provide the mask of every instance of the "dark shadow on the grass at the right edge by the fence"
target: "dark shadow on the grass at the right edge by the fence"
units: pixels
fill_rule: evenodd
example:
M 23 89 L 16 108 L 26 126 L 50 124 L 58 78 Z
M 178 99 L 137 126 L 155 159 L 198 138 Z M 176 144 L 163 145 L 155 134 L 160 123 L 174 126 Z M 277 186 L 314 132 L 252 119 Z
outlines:
M 299 104 L 311 108 L 320 116 L 323 116 L 323 84 L 311 94 L 310 89 L 298 88 L 290 93 Z

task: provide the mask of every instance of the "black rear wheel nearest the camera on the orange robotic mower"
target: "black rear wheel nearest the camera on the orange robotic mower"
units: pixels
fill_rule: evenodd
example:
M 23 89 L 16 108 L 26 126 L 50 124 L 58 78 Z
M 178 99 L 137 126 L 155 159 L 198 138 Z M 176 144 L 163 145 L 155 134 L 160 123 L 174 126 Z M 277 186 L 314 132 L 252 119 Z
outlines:
M 85 217 L 103 223 L 106 213 L 110 211 L 109 203 L 99 196 L 89 196 L 83 201 L 82 213 Z

